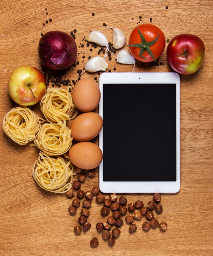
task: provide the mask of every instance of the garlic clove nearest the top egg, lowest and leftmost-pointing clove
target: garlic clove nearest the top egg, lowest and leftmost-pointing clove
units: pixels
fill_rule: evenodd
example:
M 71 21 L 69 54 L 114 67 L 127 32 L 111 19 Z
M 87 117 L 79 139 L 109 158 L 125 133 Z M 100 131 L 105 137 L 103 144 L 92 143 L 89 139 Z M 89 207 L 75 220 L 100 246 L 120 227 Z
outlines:
M 94 72 L 97 72 L 100 70 L 106 71 L 107 68 L 108 68 L 107 62 L 105 61 L 105 59 L 103 57 L 100 57 L 100 56 L 90 58 L 90 60 L 88 60 L 88 62 L 86 63 L 86 65 L 84 67 L 85 71 L 90 72 L 90 73 L 94 73 Z

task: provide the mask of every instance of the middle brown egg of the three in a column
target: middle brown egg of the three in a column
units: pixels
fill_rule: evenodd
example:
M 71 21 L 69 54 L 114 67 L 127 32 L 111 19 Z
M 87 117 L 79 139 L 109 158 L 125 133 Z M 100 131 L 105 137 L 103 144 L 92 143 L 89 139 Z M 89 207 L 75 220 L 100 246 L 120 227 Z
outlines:
M 77 141 L 89 141 L 94 139 L 103 126 L 102 117 L 94 112 L 79 115 L 71 124 L 71 136 Z

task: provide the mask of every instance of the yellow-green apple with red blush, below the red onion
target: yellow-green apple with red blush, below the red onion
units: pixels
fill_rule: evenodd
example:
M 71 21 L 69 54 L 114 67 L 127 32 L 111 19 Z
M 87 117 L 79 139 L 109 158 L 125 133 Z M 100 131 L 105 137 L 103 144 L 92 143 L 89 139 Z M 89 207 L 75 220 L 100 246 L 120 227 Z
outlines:
M 36 67 L 18 67 L 8 80 L 8 90 L 13 101 L 21 106 L 31 106 L 44 96 L 46 79 Z

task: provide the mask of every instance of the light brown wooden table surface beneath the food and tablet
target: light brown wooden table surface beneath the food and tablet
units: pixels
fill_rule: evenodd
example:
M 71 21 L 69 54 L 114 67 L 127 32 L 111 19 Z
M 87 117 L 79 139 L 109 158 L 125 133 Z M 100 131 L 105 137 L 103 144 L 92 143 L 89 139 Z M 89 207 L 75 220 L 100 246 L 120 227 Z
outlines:
M 166 9 L 168 6 L 168 9 Z M 47 11 L 45 10 L 47 8 Z M 7 91 L 11 72 L 21 65 L 33 65 L 41 69 L 38 56 L 40 34 L 51 30 L 70 33 L 77 29 L 76 43 L 93 28 L 103 31 L 112 42 L 112 30 L 122 29 L 128 40 L 130 32 L 139 22 L 157 25 L 166 39 L 180 33 L 196 34 L 204 41 L 205 59 L 198 72 L 181 75 L 181 184 L 177 194 L 162 195 L 163 212 L 157 217 L 165 221 L 165 233 L 152 229 L 145 233 L 141 226 L 145 221 L 135 221 L 138 229 L 129 234 L 128 225 L 121 227 L 121 236 L 114 247 L 103 241 L 95 225 L 105 219 L 100 216 L 101 205 L 92 200 L 90 209 L 91 229 L 75 236 L 80 209 L 70 216 L 68 207 L 72 199 L 40 189 L 34 182 L 31 170 L 38 150 L 19 146 L 9 139 L 2 128 L 0 143 L 0 255 L 213 255 L 213 2 L 200 1 L 0 1 L 0 119 L 14 107 Z M 48 14 L 46 15 L 46 12 Z M 95 13 L 92 16 L 92 13 Z M 52 18 L 45 26 L 42 24 Z M 86 45 L 86 43 L 85 43 Z M 168 43 L 166 43 L 167 47 Z M 77 79 L 77 69 L 82 69 L 82 54 L 97 56 L 98 49 L 78 48 L 80 64 L 69 69 L 66 78 Z M 125 46 L 127 48 L 127 46 Z M 82 52 L 82 53 L 81 53 Z M 159 61 L 160 66 L 136 65 L 135 72 L 170 72 L 166 48 Z M 131 72 L 132 65 L 116 64 L 113 56 L 109 69 Z M 83 74 L 93 78 L 94 74 Z M 35 110 L 37 107 L 34 108 Z M 2 122 L 2 121 L 1 121 Z M 129 166 L 131 163 L 127 163 Z M 76 177 L 74 178 L 74 180 Z M 98 185 L 98 171 L 94 178 L 87 178 L 83 190 Z M 108 196 L 108 195 L 106 195 Z M 128 202 L 152 200 L 151 194 L 126 195 Z M 95 249 L 90 240 L 97 236 L 100 243 Z

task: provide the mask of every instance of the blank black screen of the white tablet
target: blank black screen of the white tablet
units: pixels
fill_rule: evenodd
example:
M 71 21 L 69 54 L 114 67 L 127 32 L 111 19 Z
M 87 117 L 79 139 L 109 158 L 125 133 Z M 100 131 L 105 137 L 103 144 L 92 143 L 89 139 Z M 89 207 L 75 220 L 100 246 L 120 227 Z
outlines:
M 103 84 L 103 181 L 176 181 L 176 84 Z

